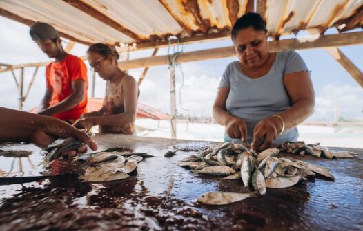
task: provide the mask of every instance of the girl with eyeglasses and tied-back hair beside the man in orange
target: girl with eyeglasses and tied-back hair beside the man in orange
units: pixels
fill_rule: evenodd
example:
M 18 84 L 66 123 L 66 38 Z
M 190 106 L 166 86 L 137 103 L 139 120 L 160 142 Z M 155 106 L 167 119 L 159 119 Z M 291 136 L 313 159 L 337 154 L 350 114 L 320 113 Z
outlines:
M 91 45 L 87 57 L 92 70 L 107 81 L 106 95 L 101 109 L 84 114 L 75 126 L 89 130 L 99 125 L 99 133 L 132 135 L 139 94 L 135 78 L 119 69 L 119 54 L 109 45 Z

